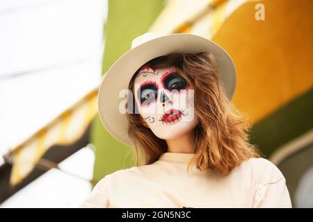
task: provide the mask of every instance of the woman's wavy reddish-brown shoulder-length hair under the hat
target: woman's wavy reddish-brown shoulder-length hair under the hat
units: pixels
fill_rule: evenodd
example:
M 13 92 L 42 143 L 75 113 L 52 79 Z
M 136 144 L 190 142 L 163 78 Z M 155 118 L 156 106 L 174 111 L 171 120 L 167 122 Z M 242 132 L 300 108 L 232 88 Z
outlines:
M 251 123 L 234 108 L 220 87 L 216 60 L 211 53 L 171 54 L 154 58 L 144 66 L 153 69 L 175 67 L 195 90 L 195 115 L 200 121 L 194 128 L 195 156 L 190 160 L 188 168 L 195 163 L 200 170 L 216 169 L 225 175 L 250 157 L 261 156 L 255 145 L 248 141 Z M 129 82 L 131 92 L 134 92 L 138 71 Z M 135 109 L 134 97 L 132 101 Z M 127 113 L 128 134 L 134 143 L 136 164 L 138 166 L 141 157 L 143 164 L 152 164 L 167 151 L 166 141 L 143 125 L 141 114 L 132 113 Z

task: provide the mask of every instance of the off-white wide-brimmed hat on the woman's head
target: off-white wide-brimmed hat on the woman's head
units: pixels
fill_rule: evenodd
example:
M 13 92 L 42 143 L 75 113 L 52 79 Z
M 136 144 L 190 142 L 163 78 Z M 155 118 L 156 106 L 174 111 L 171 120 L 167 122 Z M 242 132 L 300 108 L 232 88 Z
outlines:
M 98 112 L 106 130 L 116 139 L 132 145 L 128 137 L 126 114 L 120 112 L 125 97 L 122 89 L 128 89 L 135 72 L 146 62 L 172 53 L 213 53 L 218 65 L 218 78 L 225 89 L 227 98 L 232 99 L 236 87 L 236 69 L 228 53 L 218 44 L 199 35 L 177 33 L 158 36 L 145 33 L 131 42 L 131 49 L 121 56 L 106 72 L 99 87 Z M 196 95 L 195 95 L 196 96 Z

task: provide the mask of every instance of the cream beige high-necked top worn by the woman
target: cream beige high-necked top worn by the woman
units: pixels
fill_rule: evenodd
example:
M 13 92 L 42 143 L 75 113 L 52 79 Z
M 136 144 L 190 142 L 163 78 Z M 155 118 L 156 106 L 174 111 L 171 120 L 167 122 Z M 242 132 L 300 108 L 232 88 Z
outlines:
M 263 158 L 229 175 L 186 168 L 193 153 L 163 153 L 157 162 L 115 171 L 79 207 L 291 207 L 280 170 Z

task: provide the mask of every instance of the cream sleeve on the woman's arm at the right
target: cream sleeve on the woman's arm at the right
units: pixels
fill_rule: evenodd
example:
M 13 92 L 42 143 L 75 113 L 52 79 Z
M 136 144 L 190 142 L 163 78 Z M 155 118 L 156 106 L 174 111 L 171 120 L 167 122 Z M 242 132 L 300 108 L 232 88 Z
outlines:
M 291 208 L 291 199 L 282 172 L 272 162 L 259 158 L 259 177 L 255 187 L 253 207 Z

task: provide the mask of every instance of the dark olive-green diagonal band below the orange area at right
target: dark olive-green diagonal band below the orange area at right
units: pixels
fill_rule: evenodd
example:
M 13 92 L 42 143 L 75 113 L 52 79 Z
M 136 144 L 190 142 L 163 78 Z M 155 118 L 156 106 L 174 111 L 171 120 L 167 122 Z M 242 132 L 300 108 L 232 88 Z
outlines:
M 275 149 L 312 128 L 313 89 L 310 89 L 256 123 L 250 141 L 268 157 Z

